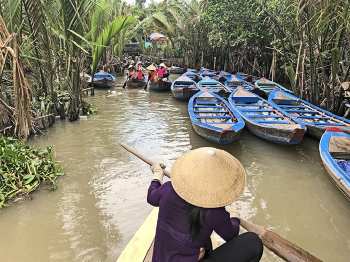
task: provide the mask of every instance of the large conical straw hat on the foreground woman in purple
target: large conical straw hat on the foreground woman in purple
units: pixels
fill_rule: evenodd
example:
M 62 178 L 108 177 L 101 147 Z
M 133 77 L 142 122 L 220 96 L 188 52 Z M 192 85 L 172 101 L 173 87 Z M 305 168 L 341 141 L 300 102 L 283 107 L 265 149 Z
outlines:
M 234 202 L 245 187 L 245 171 L 226 151 L 202 147 L 180 156 L 171 168 L 171 184 L 186 202 L 218 208 Z

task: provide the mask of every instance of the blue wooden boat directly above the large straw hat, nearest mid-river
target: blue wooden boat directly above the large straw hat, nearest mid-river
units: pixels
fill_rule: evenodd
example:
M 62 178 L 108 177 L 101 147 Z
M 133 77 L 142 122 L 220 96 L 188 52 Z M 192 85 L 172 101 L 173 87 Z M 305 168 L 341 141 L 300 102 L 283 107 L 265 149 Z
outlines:
M 193 95 L 188 113 L 195 132 L 212 143 L 231 143 L 244 127 L 243 119 L 228 102 L 210 91 Z

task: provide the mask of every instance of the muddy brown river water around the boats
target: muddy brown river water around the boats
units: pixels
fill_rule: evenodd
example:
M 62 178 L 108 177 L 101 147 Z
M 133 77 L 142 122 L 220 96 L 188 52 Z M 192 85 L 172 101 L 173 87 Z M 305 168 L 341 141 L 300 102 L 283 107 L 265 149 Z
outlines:
M 173 75 L 174 79 L 176 76 Z M 54 192 L 0 213 L 1 262 L 115 262 L 152 207 L 149 167 L 119 146 L 126 142 L 170 170 L 190 149 L 213 146 L 235 156 L 247 183 L 234 203 L 241 217 L 285 237 L 325 262 L 350 261 L 350 202 L 326 174 L 318 141 L 296 146 L 265 142 L 244 130 L 229 145 L 211 144 L 193 130 L 187 102 L 171 92 L 99 89 L 89 100 L 98 114 L 57 120 L 28 141 L 55 145 L 65 177 Z M 189 163 L 190 164 L 190 163 Z M 265 249 L 263 262 L 281 261 Z

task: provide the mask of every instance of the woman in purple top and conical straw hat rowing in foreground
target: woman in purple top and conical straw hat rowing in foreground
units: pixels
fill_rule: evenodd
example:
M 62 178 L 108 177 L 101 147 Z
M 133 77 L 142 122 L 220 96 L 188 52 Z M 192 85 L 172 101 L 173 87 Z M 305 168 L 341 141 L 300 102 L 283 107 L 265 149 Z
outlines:
M 260 238 L 239 234 L 239 213 L 229 206 L 242 194 L 245 171 L 226 151 L 204 147 L 180 156 L 171 181 L 162 184 L 163 164 L 150 167 L 147 202 L 159 207 L 152 262 L 258 262 Z M 226 243 L 212 250 L 215 231 Z

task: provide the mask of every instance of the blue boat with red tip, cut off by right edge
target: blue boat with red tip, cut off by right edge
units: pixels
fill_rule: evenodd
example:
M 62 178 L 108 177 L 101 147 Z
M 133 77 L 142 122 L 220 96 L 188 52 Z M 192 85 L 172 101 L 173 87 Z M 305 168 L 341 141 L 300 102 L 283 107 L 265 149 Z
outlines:
M 350 200 L 350 135 L 328 128 L 319 142 L 325 170 L 337 188 Z

